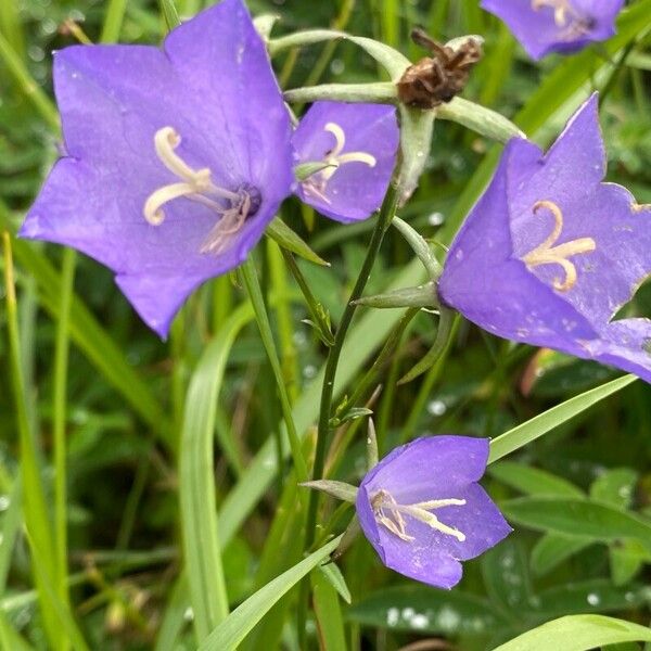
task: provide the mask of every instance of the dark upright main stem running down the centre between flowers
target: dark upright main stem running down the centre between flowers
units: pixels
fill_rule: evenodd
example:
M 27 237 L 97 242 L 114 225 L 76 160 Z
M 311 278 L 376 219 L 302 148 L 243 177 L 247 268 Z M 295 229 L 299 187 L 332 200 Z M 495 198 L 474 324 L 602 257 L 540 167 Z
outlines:
M 394 173 L 394 181 L 398 178 L 399 165 Z M 348 329 L 350 328 L 350 323 L 353 322 L 355 310 L 357 309 L 357 306 L 354 302 L 361 296 L 367 285 L 369 277 L 371 275 L 371 270 L 373 269 L 373 265 L 375 264 L 375 258 L 378 257 L 380 246 L 382 245 L 382 241 L 384 240 L 384 233 L 386 232 L 391 220 L 394 218 L 397 205 L 398 187 L 397 182 L 392 182 L 390 184 L 386 196 L 382 202 L 382 207 L 380 208 L 380 214 L 378 215 L 378 220 L 375 221 L 375 228 L 373 229 L 371 241 L 369 242 L 369 247 L 363 264 L 361 266 L 361 270 L 359 271 L 359 276 L 357 278 L 355 286 L 353 288 L 353 292 L 350 293 L 348 303 L 346 304 L 346 308 L 344 309 L 344 314 L 342 315 L 336 334 L 334 336 L 334 344 L 330 348 L 328 353 L 328 359 L 326 360 L 326 370 L 323 375 L 323 386 L 321 390 L 321 401 L 319 410 L 319 424 L 317 430 L 317 448 L 315 455 L 315 464 L 311 473 L 312 480 L 321 478 L 323 475 L 323 465 L 326 463 L 326 449 L 328 439 L 330 438 L 330 418 L 332 416 L 331 412 L 332 397 L 334 395 L 334 380 L 336 376 L 336 368 L 339 365 L 339 360 L 342 354 L 342 347 L 344 345 L 344 341 L 346 339 Z M 306 549 L 309 549 L 315 540 L 315 527 L 317 523 L 318 506 L 319 495 L 316 490 L 310 490 L 305 534 Z M 305 648 L 305 621 L 307 614 L 308 589 L 308 582 L 303 582 L 297 613 L 298 647 L 301 649 Z

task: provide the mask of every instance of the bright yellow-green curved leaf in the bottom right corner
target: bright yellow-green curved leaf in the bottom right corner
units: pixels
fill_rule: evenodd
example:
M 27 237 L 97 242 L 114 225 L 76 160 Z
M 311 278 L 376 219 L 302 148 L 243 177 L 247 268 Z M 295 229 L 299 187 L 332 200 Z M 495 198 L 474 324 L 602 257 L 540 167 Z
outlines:
M 651 641 L 651 629 L 602 615 L 573 615 L 542 624 L 494 651 L 588 651 L 629 641 Z

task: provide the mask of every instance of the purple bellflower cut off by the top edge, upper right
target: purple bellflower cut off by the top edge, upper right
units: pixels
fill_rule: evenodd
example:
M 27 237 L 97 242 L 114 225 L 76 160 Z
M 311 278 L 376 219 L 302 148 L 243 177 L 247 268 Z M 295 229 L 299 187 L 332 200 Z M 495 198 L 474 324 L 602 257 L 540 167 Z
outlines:
M 609 39 L 623 5 L 624 0 L 482 0 L 535 60 Z

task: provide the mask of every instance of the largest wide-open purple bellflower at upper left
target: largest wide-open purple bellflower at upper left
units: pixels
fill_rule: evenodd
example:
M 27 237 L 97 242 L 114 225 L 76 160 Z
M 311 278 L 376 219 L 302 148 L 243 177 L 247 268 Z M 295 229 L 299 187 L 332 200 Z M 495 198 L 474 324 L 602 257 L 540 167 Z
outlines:
M 242 0 L 222 0 L 163 49 L 54 55 L 65 157 L 21 234 L 113 269 L 165 336 L 199 284 L 241 264 L 291 192 L 291 124 Z

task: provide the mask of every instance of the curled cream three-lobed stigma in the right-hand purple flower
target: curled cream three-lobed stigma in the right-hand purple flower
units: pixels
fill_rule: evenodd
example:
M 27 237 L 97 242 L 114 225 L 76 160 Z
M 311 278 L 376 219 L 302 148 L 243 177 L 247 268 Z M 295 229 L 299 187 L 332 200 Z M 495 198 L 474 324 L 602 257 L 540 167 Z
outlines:
M 567 258 L 572 255 L 596 251 L 597 243 L 592 238 L 579 238 L 553 246 L 563 231 L 563 213 L 552 201 L 537 201 L 533 207 L 534 214 L 537 214 L 540 208 L 547 208 L 552 214 L 554 219 L 553 230 L 547 240 L 527 253 L 522 261 L 529 270 L 540 265 L 560 265 L 565 272 L 565 280 L 554 279 L 553 286 L 559 292 L 566 292 L 576 284 L 576 266 Z

